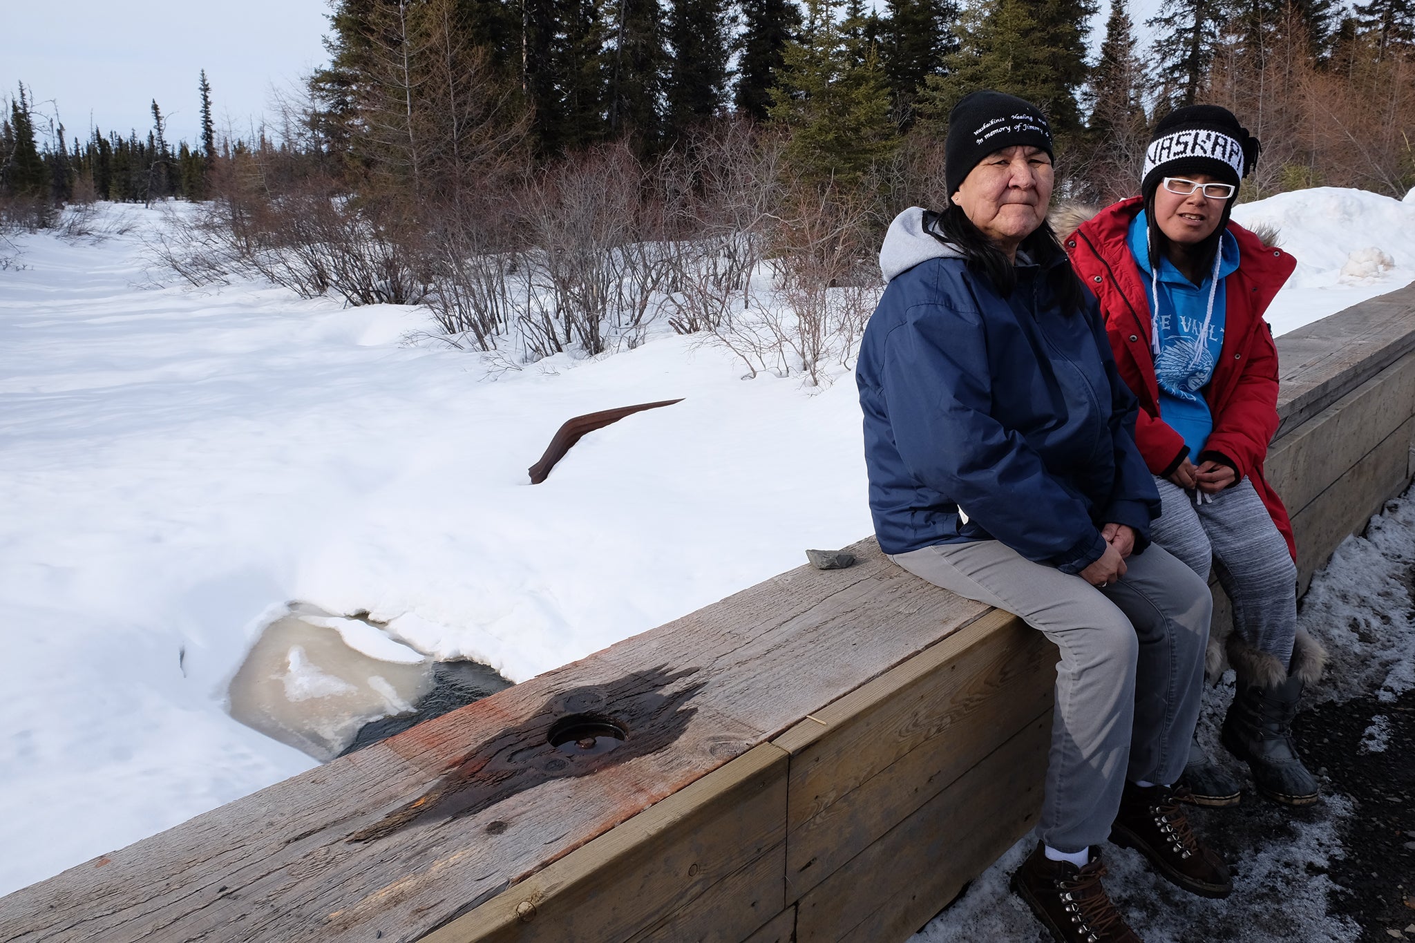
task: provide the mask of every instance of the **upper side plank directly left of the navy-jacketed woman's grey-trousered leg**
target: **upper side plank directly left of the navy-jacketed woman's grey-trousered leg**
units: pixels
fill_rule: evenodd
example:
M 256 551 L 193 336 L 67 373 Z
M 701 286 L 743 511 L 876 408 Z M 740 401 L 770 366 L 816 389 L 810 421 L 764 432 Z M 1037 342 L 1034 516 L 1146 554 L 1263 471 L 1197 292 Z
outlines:
M 788 898 L 798 899 L 1050 710 L 1056 646 L 990 611 L 818 711 L 791 749 Z

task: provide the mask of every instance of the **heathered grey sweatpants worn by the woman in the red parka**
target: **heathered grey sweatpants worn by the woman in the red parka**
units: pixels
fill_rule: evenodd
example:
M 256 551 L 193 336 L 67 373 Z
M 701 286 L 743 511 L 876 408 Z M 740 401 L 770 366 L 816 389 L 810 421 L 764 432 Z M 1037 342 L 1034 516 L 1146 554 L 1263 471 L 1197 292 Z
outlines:
M 1194 503 L 1194 492 L 1165 478 L 1156 478 L 1155 486 L 1162 508 L 1155 543 L 1206 582 L 1213 560 L 1234 605 L 1234 631 L 1288 664 L 1298 633 L 1298 566 L 1252 482 L 1244 478 L 1201 505 Z

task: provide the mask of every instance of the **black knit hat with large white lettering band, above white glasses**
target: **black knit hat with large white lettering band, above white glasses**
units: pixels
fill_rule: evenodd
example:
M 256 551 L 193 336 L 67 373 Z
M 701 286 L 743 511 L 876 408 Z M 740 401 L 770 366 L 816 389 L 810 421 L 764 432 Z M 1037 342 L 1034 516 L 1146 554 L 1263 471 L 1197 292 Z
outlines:
M 1160 119 L 1145 148 L 1140 194 L 1149 197 L 1166 177 L 1207 174 L 1238 185 L 1258 161 L 1258 139 L 1218 105 L 1189 105 Z

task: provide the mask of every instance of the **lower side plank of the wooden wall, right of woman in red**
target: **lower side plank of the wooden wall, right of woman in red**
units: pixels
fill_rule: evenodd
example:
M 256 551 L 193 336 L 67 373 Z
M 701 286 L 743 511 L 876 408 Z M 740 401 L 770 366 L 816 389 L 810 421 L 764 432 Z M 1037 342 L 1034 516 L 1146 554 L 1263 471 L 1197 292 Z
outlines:
M 1365 530 L 1365 522 L 1409 485 L 1412 433 L 1415 417 L 1401 423 L 1292 519 L 1302 592 L 1347 534 Z

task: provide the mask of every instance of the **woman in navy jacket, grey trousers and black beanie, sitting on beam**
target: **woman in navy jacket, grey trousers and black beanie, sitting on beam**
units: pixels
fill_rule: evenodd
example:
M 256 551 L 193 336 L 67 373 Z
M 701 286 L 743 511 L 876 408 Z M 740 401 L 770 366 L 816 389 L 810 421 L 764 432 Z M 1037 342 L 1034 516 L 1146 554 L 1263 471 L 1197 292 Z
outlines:
M 1231 889 L 1172 789 L 1211 601 L 1149 543 L 1159 496 L 1135 397 L 1046 225 L 1046 119 L 965 98 L 947 185 L 949 205 L 900 213 L 880 252 L 889 286 L 856 370 L 874 530 L 906 570 L 1058 646 L 1039 843 L 1013 888 L 1058 940 L 1135 940 L 1099 882 L 1108 837 L 1194 894 Z

